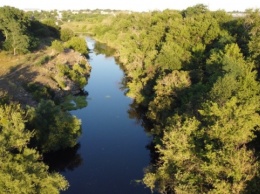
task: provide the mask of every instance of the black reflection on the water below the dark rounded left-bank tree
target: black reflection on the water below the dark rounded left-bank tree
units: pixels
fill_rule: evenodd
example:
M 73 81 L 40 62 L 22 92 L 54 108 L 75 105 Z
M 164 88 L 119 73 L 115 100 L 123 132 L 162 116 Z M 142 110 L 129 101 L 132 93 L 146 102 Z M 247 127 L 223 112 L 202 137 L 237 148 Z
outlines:
M 83 163 L 81 155 L 78 153 L 80 144 L 72 148 L 59 150 L 44 154 L 44 162 L 50 167 L 50 171 L 65 172 L 73 171 Z

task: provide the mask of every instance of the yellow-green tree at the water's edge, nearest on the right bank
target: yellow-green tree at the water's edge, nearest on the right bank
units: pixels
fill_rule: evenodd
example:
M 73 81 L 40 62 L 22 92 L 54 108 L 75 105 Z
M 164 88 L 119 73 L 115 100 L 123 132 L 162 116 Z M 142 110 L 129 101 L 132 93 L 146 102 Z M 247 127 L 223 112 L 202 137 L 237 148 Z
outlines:
M 172 119 L 171 126 L 165 129 L 167 132 L 162 144 L 156 146 L 161 155 L 161 165 L 156 171 L 148 168 L 143 179 L 151 190 L 159 193 L 199 193 L 197 190 L 203 177 L 196 173 L 201 162 L 196 157 L 193 138 L 199 124 L 195 118 Z

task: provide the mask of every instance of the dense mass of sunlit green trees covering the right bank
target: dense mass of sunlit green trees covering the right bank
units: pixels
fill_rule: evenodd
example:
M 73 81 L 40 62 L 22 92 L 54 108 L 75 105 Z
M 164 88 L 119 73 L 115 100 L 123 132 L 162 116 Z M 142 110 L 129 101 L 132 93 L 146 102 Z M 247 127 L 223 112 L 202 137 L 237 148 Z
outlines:
M 197 5 L 118 14 L 91 31 L 116 48 L 127 95 L 153 123 L 151 190 L 260 192 L 259 20 L 258 10 L 234 18 Z

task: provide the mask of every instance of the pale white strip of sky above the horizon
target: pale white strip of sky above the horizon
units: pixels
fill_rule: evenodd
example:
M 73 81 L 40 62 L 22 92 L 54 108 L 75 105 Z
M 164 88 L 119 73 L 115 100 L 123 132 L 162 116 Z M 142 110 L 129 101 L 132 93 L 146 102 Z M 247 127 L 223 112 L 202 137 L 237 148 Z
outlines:
M 41 10 L 183 10 L 196 4 L 207 5 L 212 11 L 219 9 L 226 11 L 245 11 L 250 8 L 260 9 L 260 0 L 0 0 L 0 6 L 9 5 L 19 9 Z

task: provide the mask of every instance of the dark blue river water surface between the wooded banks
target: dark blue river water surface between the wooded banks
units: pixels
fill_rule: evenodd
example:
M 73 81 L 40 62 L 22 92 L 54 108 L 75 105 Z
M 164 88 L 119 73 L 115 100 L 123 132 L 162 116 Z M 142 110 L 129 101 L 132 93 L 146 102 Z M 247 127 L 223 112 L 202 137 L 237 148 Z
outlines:
M 88 38 L 88 47 L 95 41 Z M 62 174 L 70 182 L 68 194 L 148 194 L 141 179 L 150 157 L 151 138 L 129 118 L 132 100 L 120 90 L 124 76 L 113 57 L 90 53 L 92 71 L 85 90 L 88 106 L 73 111 L 82 120 L 82 136 Z M 66 160 L 66 159 L 64 159 Z M 69 161 L 71 160 L 71 161 Z

